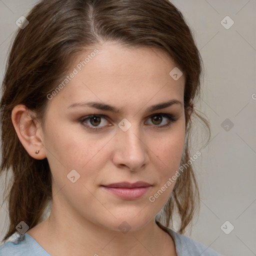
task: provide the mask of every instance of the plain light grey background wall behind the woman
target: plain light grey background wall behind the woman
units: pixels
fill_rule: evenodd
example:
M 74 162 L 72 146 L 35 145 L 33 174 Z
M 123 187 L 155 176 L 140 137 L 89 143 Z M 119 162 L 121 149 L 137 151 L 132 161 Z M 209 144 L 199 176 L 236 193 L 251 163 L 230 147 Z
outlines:
M 0 0 L 0 82 L 18 28 L 15 21 L 26 16 L 35 2 Z M 197 222 L 186 235 L 223 255 L 256 255 L 256 0 L 171 2 L 188 21 L 203 58 L 205 77 L 198 108 L 208 116 L 212 132 L 194 162 L 202 198 Z M 227 15 L 234 21 L 229 29 L 221 24 Z M 228 19 L 223 22 L 231 24 Z M 195 152 L 203 145 L 199 135 Z M 6 205 L 0 207 L 0 239 L 7 226 L 5 209 Z M 229 234 L 220 228 L 227 220 L 222 229 L 229 232 L 232 224 Z

